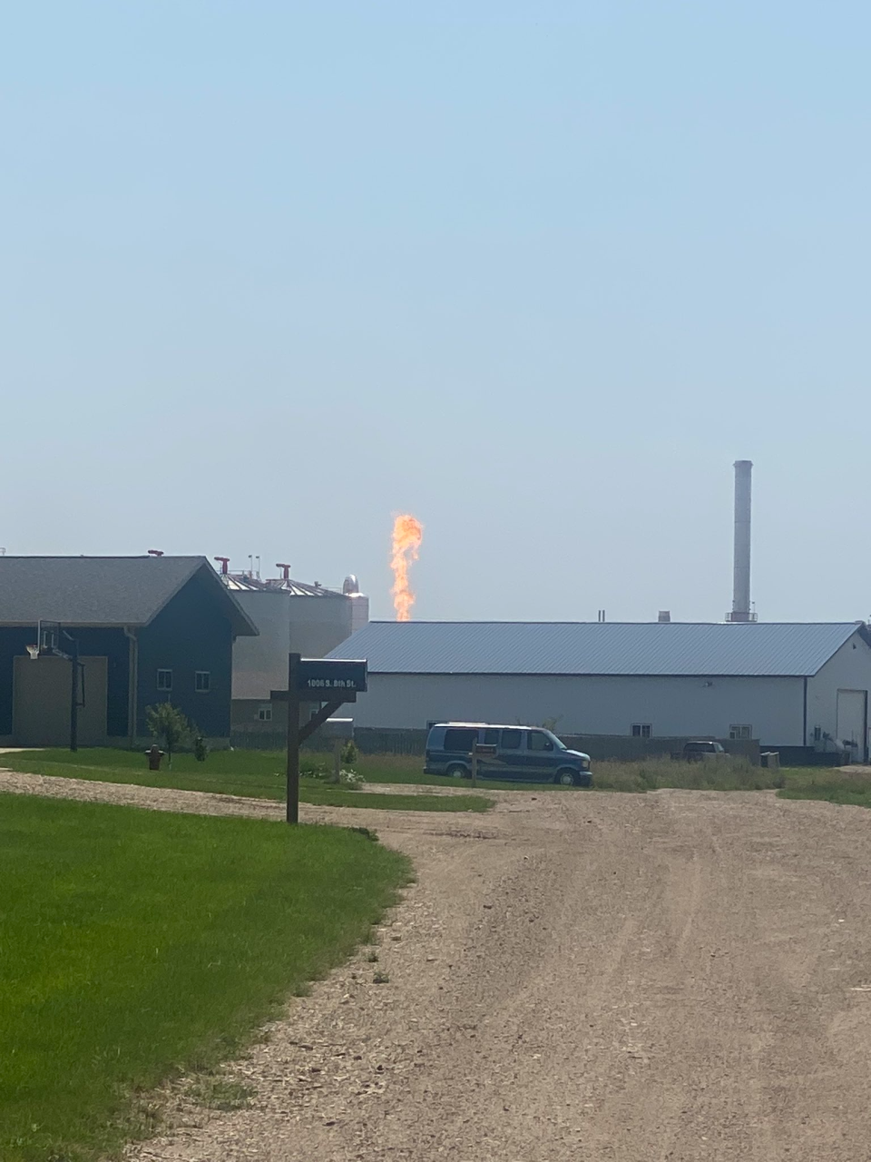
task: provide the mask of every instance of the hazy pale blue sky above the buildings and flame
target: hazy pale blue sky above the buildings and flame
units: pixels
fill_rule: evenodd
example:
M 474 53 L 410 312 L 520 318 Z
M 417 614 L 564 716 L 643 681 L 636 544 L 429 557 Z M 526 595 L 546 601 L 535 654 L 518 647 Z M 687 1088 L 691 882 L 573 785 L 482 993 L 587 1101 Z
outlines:
M 871 9 L 34 2 L 0 44 L 9 553 L 427 618 L 871 614 Z M 268 569 L 267 572 L 274 572 Z

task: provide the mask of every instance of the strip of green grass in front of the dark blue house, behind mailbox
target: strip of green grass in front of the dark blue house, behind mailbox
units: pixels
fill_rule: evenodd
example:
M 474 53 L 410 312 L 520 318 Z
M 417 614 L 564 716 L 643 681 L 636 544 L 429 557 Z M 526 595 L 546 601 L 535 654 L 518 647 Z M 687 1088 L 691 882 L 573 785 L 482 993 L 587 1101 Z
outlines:
M 23 751 L 0 755 L 0 767 L 39 775 L 62 775 L 66 779 L 92 779 L 109 783 L 136 783 L 141 787 L 170 787 L 188 791 L 211 791 L 217 795 L 244 795 L 253 798 L 285 798 L 285 755 L 269 751 L 214 751 L 206 762 L 197 762 L 193 754 L 177 754 L 172 769 L 164 760 L 163 769 L 149 770 L 144 754 L 137 751 L 117 751 L 108 747 L 70 751 Z M 305 756 L 307 763 L 322 761 L 322 756 Z M 375 781 L 375 776 L 366 774 Z M 381 781 L 381 780 L 377 780 Z M 399 782 L 398 779 L 387 780 Z M 445 786 L 441 780 L 440 786 Z M 466 784 L 465 784 L 466 786 Z M 318 779 L 302 777 L 300 799 L 322 806 L 380 808 L 391 811 L 488 811 L 492 799 L 481 795 L 389 795 L 373 794 L 365 789 L 350 791 L 332 787 Z

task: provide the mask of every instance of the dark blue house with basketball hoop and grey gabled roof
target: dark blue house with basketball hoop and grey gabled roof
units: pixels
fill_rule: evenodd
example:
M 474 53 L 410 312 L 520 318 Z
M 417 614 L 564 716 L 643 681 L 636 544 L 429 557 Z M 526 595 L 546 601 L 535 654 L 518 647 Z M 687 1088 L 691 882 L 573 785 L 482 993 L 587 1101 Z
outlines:
M 204 557 L 0 557 L 0 745 L 70 737 L 72 667 L 31 659 L 39 622 L 78 643 L 80 745 L 144 743 L 145 708 L 166 701 L 229 740 L 232 646 L 257 629 Z

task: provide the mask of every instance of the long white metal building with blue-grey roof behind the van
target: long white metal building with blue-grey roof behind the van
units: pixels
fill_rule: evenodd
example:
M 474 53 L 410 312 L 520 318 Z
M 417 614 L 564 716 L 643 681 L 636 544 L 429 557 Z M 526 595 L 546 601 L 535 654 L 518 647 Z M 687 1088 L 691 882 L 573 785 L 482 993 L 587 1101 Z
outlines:
M 866 761 L 871 632 L 836 624 L 370 622 L 359 726 L 541 723 L 562 734 L 703 736 Z

